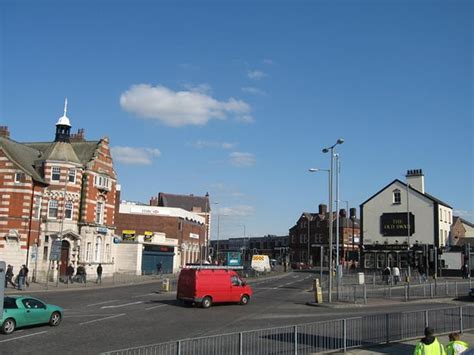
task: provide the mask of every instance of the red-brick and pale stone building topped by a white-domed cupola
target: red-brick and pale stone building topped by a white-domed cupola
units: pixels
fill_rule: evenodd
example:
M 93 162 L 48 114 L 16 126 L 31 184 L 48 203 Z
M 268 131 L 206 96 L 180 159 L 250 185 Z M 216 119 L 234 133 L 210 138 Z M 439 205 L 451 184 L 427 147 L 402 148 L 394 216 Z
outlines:
M 56 277 L 56 264 L 60 274 L 68 263 L 112 271 L 117 177 L 109 140 L 71 134 L 66 111 L 67 102 L 53 142 L 16 142 L 0 127 L 1 259 L 15 273 L 26 264 L 36 279 Z M 58 261 L 50 261 L 54 241 Z

